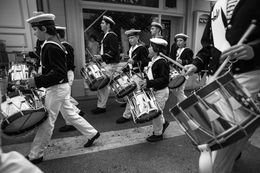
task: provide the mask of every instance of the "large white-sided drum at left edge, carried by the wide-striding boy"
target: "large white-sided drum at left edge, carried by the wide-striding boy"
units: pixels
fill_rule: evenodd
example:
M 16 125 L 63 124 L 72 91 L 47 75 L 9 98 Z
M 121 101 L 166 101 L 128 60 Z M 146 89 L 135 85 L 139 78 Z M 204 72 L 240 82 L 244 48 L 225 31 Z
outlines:
M 19 135 L 33 130 L 47 119 L 47 111 L 35 91 L 20 91 L 3 96 L 1 114 L 2 132 L 6 135 Z

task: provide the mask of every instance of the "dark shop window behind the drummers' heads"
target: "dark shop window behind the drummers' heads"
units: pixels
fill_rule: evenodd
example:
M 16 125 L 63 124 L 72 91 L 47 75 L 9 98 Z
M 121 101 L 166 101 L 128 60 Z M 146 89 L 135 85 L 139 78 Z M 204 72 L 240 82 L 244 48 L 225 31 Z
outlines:
M 104 36 L 100 29 L 103 12 L 102 10 L 83 9 L 86 61 L 92 55 L 99 54 L 99 43 Z M 116 11 L 107 11 L 104 15 L 111 16 L 116 22 L 113 31 L 118 35 L 120 41 L 119 50 L 122 57 L 127 55 L 129 50 L 128 39 L 125 35 L 125 31 L 128 29 L 140 29 L 142 31 L 140 40 L 149 46 L 149 39 L 151 38 L 150 24 L 158 17 L 157 15 Z M 99 17 L 100 19 L 96 20 Z

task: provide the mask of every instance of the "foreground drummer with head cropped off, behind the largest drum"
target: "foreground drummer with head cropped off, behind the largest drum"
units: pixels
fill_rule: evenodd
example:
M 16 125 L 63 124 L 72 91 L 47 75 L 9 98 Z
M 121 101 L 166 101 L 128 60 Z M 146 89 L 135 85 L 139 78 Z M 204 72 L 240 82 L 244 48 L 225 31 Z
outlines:
M 234 78 L 256 97 L 260 86 L 260 29 L 259 26 L 246 39 L 237 44 L 252 20 L 260 21 L 259 0 L 218 0 L 205 27 L 201 43 L 192 64 L 185 66 L 187 74 L 207 68 L 212 75 L 224 59 L 234 61 L 231 72 Z M 224 109 L 224 107 L 223 107 Z M 213 172 L 230 173 L 241 153 L 247 136 L 236 143 L 212 153 Z

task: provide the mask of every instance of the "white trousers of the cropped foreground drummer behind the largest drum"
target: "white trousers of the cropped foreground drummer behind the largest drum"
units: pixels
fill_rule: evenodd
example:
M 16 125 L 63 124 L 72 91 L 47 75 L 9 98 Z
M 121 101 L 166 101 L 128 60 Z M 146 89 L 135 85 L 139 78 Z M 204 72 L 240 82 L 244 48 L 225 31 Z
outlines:
M 251 71 L 239 75 L 234 75 L 238 82 L 256 97 L 260 90 L 260 70 Z M 247 136 L 238 142 L 223 149 L 212 152 L 213 172 L 214 173 L 231 173 L 235 159 L 243 150 L 250 136 Z

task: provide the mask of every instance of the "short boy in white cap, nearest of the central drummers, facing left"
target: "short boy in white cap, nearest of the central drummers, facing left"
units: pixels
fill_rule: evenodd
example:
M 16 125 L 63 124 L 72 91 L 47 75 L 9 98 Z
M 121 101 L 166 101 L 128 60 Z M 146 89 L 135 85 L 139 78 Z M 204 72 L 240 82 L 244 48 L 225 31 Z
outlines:
M 160 109 L 163 111 L 165 103 L 169 97 L 169 73 L 170 68 L 168 62 L 159 56 L 159 53 L 167 46 L 167 41 L 162 38 L 150 39 L 151 45 L 149 47 L 149 57 L 152 59 L 147 67 L 148 79 L 140 82 L 142 88 L 152 88 L 154 96 Z M 163 114 L 153 119 L 153 135 L 146 140 L 149 142 L 156 142 L 163 140 L 163 133 L 167 126 Z

